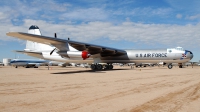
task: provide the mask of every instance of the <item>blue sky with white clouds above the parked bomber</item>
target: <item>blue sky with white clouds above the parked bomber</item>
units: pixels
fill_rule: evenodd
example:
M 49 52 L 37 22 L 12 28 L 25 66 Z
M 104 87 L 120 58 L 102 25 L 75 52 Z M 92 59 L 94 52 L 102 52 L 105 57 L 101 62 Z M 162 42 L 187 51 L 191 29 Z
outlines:
M 37 25 L 42 35 L 118 49 L 178 46 L 200 60 L 199 0 L 1 0 L 0 61 L 26 41 L 6 36 Z

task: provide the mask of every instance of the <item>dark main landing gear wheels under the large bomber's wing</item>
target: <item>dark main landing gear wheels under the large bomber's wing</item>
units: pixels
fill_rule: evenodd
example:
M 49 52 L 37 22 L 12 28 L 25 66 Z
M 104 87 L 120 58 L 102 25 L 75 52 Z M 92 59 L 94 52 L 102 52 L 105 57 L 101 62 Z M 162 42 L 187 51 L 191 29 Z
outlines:
M 92 64 L 91 65 L 92 70 L 112 70 L 113 65 L 112 64 L 107 64 L 107 65 L 101 65 L 101 64 Z

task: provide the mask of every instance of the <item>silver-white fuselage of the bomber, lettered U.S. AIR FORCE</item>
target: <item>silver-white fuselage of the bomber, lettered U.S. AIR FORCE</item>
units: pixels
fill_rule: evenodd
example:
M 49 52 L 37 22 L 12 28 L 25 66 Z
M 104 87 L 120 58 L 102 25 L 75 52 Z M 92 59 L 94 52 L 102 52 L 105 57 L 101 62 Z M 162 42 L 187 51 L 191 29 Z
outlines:
M 53 48 L 52 48 L 53 49 Z M 192 52 L 177 49 L 165 50 L 125 50 L 126 55 L 122 56 L 107 56 L 98 58 L 98 63 L 184 63 L 188 62 L 192 57 Z M 65 55 L 60 55 L 57 52 L 50 54 L 50 51 L 42 52 L 41 58 L 45 60 L 54 60 L 66 63 L 95 63 L 95 56 L 83 60 L 81 51 L 68 51 Z M 183 55 L 185 55 L 183 57 Z

